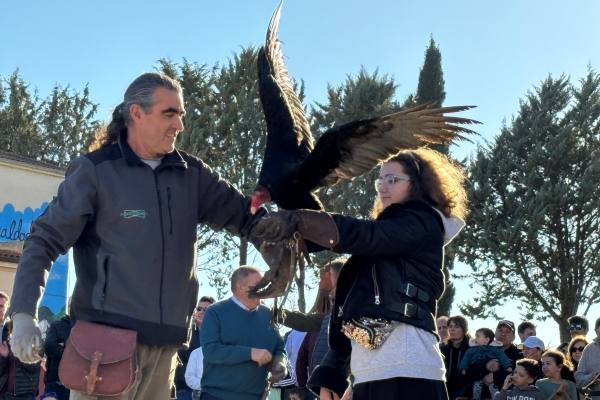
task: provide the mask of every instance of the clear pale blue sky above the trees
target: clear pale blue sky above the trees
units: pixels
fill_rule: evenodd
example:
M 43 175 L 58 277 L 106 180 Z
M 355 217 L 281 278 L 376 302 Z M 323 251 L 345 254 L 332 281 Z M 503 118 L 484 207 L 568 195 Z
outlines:
M 15 69 L 42 97 L 55 84 L 89 84 L 107 119 L 127 84 L 160 58 L 226 62 L 259 46 L 278 0 L 41 1 L 4 3 L 0 76 Z M 446 104 L 475 104 L 469 116 L 492 139 L 519 99 L 548 74 L 579 79 L 600 69 L 595 0 L 288 0 L 279 36 L 308 103 L 324 101 L 361 66 L 394 77 L 403 100 L 416 89 L 430 36 L 442 52 Z M 473 145 L 453 148 L 464 157 Z M 465 286 L 465 285 L 461 285 Z M 459 297 L 467 298 L 467 287 Z M 595 317 L 592 314 L 592 317 Z M 518 319 L 515 316 L 515 319 Z M 552 325 L 553 326 L 553 325 Z M 474 326 L 477 327 L 477 326 Z M 550 328 L 549 328 L 550 329 Z

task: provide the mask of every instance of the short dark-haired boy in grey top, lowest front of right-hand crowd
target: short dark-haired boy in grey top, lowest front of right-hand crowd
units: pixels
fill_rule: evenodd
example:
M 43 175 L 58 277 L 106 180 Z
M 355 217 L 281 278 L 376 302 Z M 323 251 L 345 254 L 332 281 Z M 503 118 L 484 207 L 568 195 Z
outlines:
M 518 360 L 515 372 L 506 377 L 502 390 L 496 393 L 494 400 L 545 400 L 542 392 L 533 386 L 538 368 L 535 360 Z

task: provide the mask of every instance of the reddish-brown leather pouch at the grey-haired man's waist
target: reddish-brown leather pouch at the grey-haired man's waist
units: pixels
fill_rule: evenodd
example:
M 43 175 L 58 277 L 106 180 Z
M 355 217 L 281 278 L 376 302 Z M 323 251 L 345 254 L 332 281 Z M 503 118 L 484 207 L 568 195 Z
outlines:
M 71 390 L 95 396 L 118 396 L 135 380 L 137 332 L 77 321 L 58 367 Z

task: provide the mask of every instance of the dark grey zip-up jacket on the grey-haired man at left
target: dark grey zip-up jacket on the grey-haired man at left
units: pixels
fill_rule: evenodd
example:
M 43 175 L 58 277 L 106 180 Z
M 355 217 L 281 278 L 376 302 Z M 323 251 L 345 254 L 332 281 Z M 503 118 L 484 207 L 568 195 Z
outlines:
M 32 224 L 11 313 L 35 315 L 45 270 L 73 247 L 75 319 L 133 329 L 147 345 L 180 347 L 198 293 L 199 223 L 247 235 L 249 200 L 182 151 L 153 170 L 122 136 L 75 159 Z

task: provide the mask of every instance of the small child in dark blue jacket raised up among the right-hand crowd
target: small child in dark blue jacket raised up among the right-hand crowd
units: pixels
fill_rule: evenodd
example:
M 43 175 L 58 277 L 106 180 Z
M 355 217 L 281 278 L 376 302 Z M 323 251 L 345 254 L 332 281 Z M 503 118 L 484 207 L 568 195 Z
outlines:
M 494 340 L 494 331 L 489 328 L 480 328 L 475 332 L 475 339 L 464 357 L 460 361 L 459 368 L 465 375 L 471 365 L 479 365 L 490 360 L 498 360 L 500 366 L 507 372 L 512 371 L 510 359 L 504 354 L 502 344 Z M 483 382 L 477 381 L 473 384 L 473 400 L 481 399 Z

